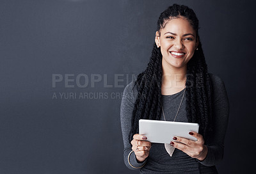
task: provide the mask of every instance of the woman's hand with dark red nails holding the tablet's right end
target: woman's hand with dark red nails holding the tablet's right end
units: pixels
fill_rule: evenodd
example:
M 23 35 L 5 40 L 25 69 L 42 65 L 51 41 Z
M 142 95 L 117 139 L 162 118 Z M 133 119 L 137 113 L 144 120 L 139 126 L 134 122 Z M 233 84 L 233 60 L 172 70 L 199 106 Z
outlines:
M 171 141 L 170 145 L 182 150 L 182 152 L 188 154 L 190 157 L 203 161 L 208 152 L 207 146 L 204 145 L 203 136 L 196 132 L 189 132 L 189 134 L 195 137 L 197 141 L 175 136 L 173 137 L 173 140 L 176 142 Z

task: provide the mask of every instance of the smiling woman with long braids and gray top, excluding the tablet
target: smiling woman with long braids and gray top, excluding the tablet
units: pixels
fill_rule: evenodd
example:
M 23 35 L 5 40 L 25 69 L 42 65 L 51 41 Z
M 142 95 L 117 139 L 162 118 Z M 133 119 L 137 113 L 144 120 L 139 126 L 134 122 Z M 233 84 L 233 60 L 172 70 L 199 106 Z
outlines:
M 124 90 L 125 164 L 141 173 L 218 173 L 228 114 L 225 84 L 207 72 L 198 19 L 188 6 L 173 4 L 157 21 L 148 67 Z M 150 143 L 138 134 L 140 119 L 199 123 L 198 133 L 189 132 L 198 141 L 173 137 L 170 145 Z

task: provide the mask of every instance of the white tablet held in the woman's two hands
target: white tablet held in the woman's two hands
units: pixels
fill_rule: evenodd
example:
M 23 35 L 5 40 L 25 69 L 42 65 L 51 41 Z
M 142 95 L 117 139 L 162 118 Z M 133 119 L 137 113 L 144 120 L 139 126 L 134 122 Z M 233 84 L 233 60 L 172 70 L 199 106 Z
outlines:
M 162 120 L 139 120 L 139 134 L 147 136 L 151 143 L 170 143 L 173 136 L 179 136 L 196 141 L 197 139 L 188 133 L 198 133 L 198 123 L 168 122 Z

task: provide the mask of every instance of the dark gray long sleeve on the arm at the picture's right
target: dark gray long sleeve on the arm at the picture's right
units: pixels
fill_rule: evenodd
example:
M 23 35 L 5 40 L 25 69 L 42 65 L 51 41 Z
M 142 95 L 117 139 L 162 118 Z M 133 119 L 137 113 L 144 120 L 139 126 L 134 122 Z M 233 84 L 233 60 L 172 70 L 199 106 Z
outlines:
M 214 166 L 223 159 L 224 139 L 227 130 L 229 116 L 229 102 L 225 84 L 216 75 L 210 74 L 213 86 L 213 134 L 211 140 L 207 143 L 208 153 L 204 161 L 199 161 L 204 166 Z

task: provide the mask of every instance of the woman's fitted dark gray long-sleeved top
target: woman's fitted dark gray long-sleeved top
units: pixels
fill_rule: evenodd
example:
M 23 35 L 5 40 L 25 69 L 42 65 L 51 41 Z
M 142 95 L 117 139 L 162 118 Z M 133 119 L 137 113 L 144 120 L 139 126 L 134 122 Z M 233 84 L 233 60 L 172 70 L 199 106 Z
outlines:
M 129 143 L 129 131 L 131 129 L 131 117 L 134 102 L 136 100 L 136 88 L 132 90 L 134 82 L 129 83 L 125 89 L 120 107 L 121 127 L 124 140 L 124 162 L 133 170 L 140 170 L 140 173 L 217 173 L 215 164 L 223 159 L 224 139 L 228 123 L 229 103 L 225 84 L 220 77 L 211 73 L 214 98 L 214 132 L 211 134 L 211 142 L 207 144 L 208 154 L 204 161 L 198 161 L 189 157 L 181 150 L 175 148 L 172 157 L 166 152 L 164 144 L 152 143 L 147 159 L 140 163 L 136 160 L 134 152 L 131 153 L 128 162 L 128 155 L 132 151 Z M 184 90 L 173 95 L 162 95 L 164 115 L 167 121 L 173 121 L 180 104 Z M 161 114 L 163 119 L 163 113 Z M 188 122 L 186 117 L 186 95 L 176 122 Z M 144 165 L 144 166 L 143 166 Z M 143 167 L 141 167 L 143 166 Z

